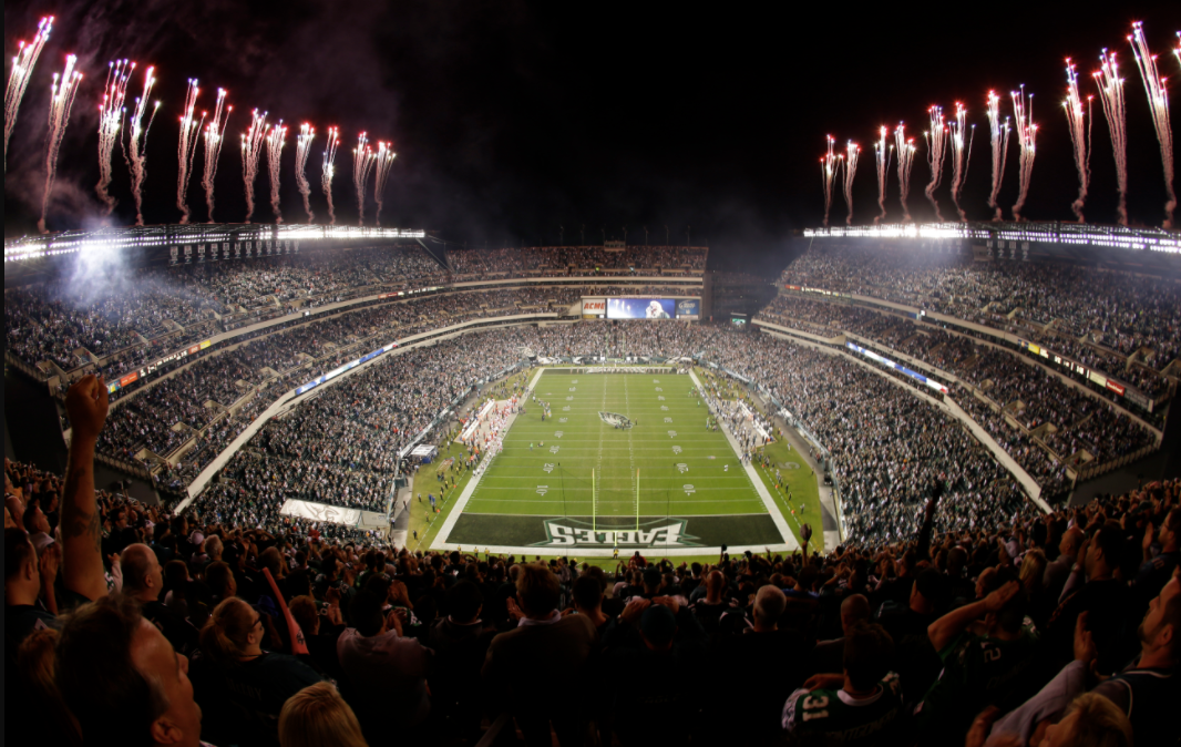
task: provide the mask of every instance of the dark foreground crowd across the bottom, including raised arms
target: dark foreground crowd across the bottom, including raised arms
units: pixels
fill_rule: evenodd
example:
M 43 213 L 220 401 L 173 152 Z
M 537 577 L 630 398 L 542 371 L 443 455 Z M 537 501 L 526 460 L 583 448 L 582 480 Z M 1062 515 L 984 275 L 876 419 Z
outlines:
M 70 481 L 6 462 L 22 743 L 1177 739 L 1179 481 L 944 532 L 938 479 L 914 532 L 824 554 L 410 553 L 96 494 L 103 392 L 71 391 Z

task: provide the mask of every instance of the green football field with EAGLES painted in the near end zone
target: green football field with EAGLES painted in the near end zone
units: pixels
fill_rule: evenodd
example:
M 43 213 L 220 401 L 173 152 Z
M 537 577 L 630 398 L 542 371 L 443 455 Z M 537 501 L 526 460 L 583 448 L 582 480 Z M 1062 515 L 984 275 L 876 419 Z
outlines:
M 601 556 L 797 546 L 772 492 L 722 429 L 707 428 L 691 376 L 544 371 L 535 382 L 436 548 Z

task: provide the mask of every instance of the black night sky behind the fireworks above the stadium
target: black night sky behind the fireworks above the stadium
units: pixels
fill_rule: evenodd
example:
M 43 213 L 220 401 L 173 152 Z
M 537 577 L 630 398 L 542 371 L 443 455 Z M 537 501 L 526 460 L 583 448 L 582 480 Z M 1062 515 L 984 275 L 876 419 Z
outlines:
M 823 201 L 818 156 L 826 134 L 859 141 L 864 151 L 855 186 L 855 222 L 876 214 L 869 144 L 879 124 L 905 119 L 921 134 L 926 110 L 964 100 L 977 123 L 965 204 L 987 216 L 988 89 L 1024 83 L 1040 124 L 1025 215 L 1068 220 L 1077 180 L 1065 117 L 1063 58 L 1079 60 L 1084 92 L 1100 50 L 1120 53 L 1127 79 L 1129 212 L 1159 225 L 1164 202 L 1157 141 L 1143 85 L 1124 37 L 1143 20 L 1162 74 L 1181 80 L 1172 56 L 1181 28 L 1177 2 L 1089 6 L 942 4 L 867 6 L 759 4 L 743 9 L 698 4 L 311 2 L 115 0 L 5 4 L 6 77 L 15 39 L 28 38 L 43 14 L 57 15 L 9 147 L 5 178 L 6 235 L 33 229 L 44 184 L 43 149 L 50 76 L 76 52 L 89 74 L 73 109 L 50 212 L 53 229 L 94 225 L 98 201 L 97 108 L 106 63 L 130 57 L 157 67 L 161 116 L 148 145 L 145 216 L 178 219 L 177 117 L 187 78 L 204 91 L 230 92 L 234 113 L 217 175 L 217 217 L 244 216 L 237 135 L 253 108 L 283 118 L 293 131 L 283 150 L 282 204 L 302 219 L 295 191 L 294 129 L 309 121 L 344 134 L 334 199 L 341 222 L 355 222 L 351 154 L 357 134 L 392 139 L 398 151 L 384 225 L 424 227 L 452 241 L 501 246 L 621 238 L 674 241 L 692 226 L 715 262 L 758 268 L 778 254 L 795 228 L 818 225 Z M 888 12 L 887 12 L 888 11 Z M 131 91 L 137 90 L 138 80 Z M 1174 137 L 1181 113 L 1173 89 Z M 130 98 L 133 93 L 129 95 Z M 1007 100 L 1006 111 L 1011 110 Z M 1088 217 L 1115 219 L 1115 174 L 1107 124 L 1095 111 Z M 198 147 L 203 148 L 203 147 Z M 1017 193 L 1011 144 L 1001 202 Z M 322 138 L 308 176 L 318 219 Z M 914 165 L 912 213 L 932 215 L 922 196 L 925 151 Z M 197 170 L 203 158 L 197 154 Z M 129 178 L 116 149 L 113 221 L 130 223 Z M 951 212 L 945 186 L 938 193 Z M 256 220 L 269 221 L 268 180 L 260 174 Z M 372 196 L 366 217 L 373 216 Z M 205 219 L 200 175 L 189 190 Z M 900 215 L 896 177 L 887 208 Z M 843 216 L 837 190 L 834 217 Z M 713 262 L 711 262 L 713 264 Z

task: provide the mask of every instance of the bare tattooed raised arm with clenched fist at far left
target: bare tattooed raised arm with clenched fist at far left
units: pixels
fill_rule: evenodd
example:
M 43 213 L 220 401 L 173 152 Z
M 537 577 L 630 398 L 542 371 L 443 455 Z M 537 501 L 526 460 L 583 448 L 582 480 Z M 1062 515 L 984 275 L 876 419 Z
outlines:
M 73 437 L 61 492 L 61 576 L 66 589 L 91 600 L 106 596 L 103 519 L 94 500 L 94 444 L 109 407 L 106 384 L 93 375 L 84 376 L 66 394 Z

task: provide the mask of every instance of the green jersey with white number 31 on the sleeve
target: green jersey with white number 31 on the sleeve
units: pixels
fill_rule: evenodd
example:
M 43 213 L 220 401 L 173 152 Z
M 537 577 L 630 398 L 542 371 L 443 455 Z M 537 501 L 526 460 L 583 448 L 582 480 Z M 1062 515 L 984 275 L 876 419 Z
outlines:
M 783 707 L 783 729 L 804 745 L 883 745 L 901 715 L 902 689 L 892 671 L 869 697 L 855 699 L 844 690 L 796 690 Z

